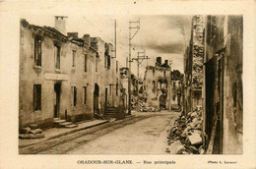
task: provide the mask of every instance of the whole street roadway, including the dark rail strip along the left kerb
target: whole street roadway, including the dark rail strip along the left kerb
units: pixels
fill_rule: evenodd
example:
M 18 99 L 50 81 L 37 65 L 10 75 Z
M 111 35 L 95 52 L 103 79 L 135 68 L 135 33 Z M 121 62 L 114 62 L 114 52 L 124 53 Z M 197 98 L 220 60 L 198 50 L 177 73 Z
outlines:
M 21 147 L 28 154 L 162 154 L 177 112 L 132 112 L 132 116 Z

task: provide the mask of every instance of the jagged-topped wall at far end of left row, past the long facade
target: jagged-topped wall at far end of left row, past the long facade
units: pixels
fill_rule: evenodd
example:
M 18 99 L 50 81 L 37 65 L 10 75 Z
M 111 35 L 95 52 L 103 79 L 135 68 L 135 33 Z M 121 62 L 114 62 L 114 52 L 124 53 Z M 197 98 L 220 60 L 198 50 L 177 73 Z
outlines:
M 94 83 L 99 86 L 98 108 L 99 112 L 103 113 L 106 105 L 118 106 L 119 104 L 118 95 L 116 94 L 116 84 L 118 84 L 119 81 L 119 73 L 118 70 L 116 71 L 116 59 L 113 58 L 112 44 L 104 42 L 99 37 L 92 37 L 91 43 L 92 46 L 96 48 L 98 54 Z M 110 64 L 108 67 L 109 61 Z M 105 95 L 106 89 L 107 96 Z

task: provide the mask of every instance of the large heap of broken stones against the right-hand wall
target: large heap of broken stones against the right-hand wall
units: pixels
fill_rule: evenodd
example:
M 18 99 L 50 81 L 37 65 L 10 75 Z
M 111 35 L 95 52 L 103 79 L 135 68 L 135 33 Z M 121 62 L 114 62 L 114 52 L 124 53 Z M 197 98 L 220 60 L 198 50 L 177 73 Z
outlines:
M 179 116 L 167 137 L 166 152 L 172 154 L 203 154 L 202 110 Z

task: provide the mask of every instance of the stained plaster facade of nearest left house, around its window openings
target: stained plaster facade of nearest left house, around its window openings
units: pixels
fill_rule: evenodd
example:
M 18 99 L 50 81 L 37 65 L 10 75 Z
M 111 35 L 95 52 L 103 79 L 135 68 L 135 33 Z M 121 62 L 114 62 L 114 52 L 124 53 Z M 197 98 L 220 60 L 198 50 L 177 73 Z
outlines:
M 41 38 L 41 66 L 34 65 L 34 37 Z M 60 69 L 56 69 L 54 45 L 60 47 Z M 76 50 L 76 67 L 72 67 L 72 50 Z M 84 73 L 85 54 L 88 54 L 88 72 Z M 93 117 L 93 88 L 91 87 L 91 65 L 96 51 L 82 49 L 67 41 L 66 36 L 54 36 L 46 28 L 21 22 L 20 56 L 20 123 L 22 127 L 38 123 L 50 127 L 54 118 L 56 93 L 54 84 L 60 84 L 60 102 L 58 117 L 72 121 Z M 81 63 L 81 64 L 79 64 Z M 81 74 L 82 73 L 82 74 Z M 41 85 L 41 109 L 33 110 L 33 85 Z M 72 106 L 71 86 L 76 86 L 81 94 L 77 95 L 77 104 Z M 88 102 L 83 104 L 83 86 L 88 86 Z

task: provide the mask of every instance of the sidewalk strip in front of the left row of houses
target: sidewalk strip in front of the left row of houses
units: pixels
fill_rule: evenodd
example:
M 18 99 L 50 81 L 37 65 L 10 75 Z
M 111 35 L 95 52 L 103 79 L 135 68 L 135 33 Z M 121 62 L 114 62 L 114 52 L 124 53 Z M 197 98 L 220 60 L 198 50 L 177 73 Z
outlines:
M 102 125 L 108 123 L 107 120 L 93 120 L 93 121 L 86 121 L 78 124 L 77 128 L 67 129 L 67 128 L 50 128 L 45 131 L 42 131 L 44 134 L 44 138 L 41 139 L 31 139 L 31 140 L 21 140 L 19 139 L 19 147 L 25 147 L 32 145 L 34 143 L 38 143 L 41 141 L 47 141 L 54 138 L 59 138 L 74 132 L 82 131 L 88 128 L 92 128 L 98 125 Z

